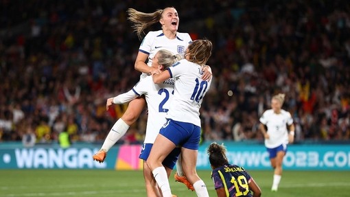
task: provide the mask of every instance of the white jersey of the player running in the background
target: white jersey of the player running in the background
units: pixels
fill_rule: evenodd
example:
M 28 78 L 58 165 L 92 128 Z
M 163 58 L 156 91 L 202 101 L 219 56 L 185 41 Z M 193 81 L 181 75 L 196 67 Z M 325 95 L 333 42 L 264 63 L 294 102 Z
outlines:
M 292 115 L 288 111 L 281 109 L 281 113 L 277 114 L 269 109 L 261 115 L 259 121 L 266 125 L 270 139 L 265 139 L 267 148 L 276 148 L 281 144 L 288 144 L 288 128 L 293 124 Z

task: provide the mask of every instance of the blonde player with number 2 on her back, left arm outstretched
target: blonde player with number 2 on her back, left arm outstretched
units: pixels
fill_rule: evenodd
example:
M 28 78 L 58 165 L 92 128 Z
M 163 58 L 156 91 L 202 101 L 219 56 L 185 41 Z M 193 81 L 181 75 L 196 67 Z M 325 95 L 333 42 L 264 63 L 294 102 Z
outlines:
M 161 49 L 153 57 L 152 67 L 163 71 L 181 59 L 181 56 L 173 55 L 170 51 Z M 161 197 L 159 187 L 156 185 L 156 181 L 154 181 L 152 172 L 150 167 L 148 167 L 146 160 L 148 159 L 156 135 L 158 135 L 159 130 L 166 122 L 165 115 L 169 110 L 173 92 L 173 79 L 169 79 L 161 84 L 154 84 L 152 76 L 146 76 L 127 93 L 116 97 L 110 97 L 106 102 L 106 109 L 108 110 L 112 104 L 124 104 L 141 95 L 145 95 L 145 100 L 148 106 L 148 119 L 145 140 L 143 141 L 143 148 L 139 158 L 143 159 L 143 177 L 145 178 L 146 192 L 149 197 Z M 168 177 L 174 168 L 179 154 L 180 148 L 175 148 L 163 161 Z

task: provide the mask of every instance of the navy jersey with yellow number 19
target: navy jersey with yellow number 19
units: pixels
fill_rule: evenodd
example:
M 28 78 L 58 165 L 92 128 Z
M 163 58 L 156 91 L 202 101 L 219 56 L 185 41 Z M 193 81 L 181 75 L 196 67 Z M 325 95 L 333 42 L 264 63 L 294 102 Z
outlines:
M 249 185 L 251 176 L 238 165 L 226 164 L 211 172 L 215 189 L 224 188 L 227 197 L 253 196 Z

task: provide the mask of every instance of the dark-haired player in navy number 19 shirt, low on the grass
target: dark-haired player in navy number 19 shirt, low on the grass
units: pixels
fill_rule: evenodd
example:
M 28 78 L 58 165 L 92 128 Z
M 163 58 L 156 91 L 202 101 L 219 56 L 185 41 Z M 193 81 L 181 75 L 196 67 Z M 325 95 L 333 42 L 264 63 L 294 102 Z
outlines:
M 207 152 L 213 169 L 211 178 L 218 197 L 261 196 L 261 189 L 248 172 L 243 167 L 229 164 L 224 146 L 211 143 Z

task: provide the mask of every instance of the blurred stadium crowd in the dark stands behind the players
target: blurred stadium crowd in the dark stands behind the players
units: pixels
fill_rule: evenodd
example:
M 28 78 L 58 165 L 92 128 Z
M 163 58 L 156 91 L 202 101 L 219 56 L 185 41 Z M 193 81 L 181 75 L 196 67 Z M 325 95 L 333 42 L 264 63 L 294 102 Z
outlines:
M 347 1 L 0 0 L 0 141 L 35 134 L 51 143 L 63 130 L 73 141 L 103 141 L 126 109 L 106 112 L 106 99 L 140 75 L 141 41 L 126 9 L 166 6 L 178 10 L 179 32 L 215 45 L 205 139 L 261 140 L 259 117 L 276 93 L 286 94 L 296 141 L 350 138 Z M 121 143 L 143 141 L 146 119 L 145 110 Z

